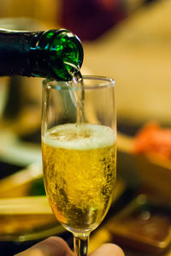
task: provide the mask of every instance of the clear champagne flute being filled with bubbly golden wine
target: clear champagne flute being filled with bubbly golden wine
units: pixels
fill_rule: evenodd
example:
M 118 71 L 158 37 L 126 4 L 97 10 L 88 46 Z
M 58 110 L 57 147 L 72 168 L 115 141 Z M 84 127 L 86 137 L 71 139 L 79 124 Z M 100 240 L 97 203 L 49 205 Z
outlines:
M 115 81 L 83 81 L 84 93 L 76 83 L 44 80 L 42 108 L 46 194 L 80 256 L 87 255 L 89 235 L 109 210 L 116 181 Z

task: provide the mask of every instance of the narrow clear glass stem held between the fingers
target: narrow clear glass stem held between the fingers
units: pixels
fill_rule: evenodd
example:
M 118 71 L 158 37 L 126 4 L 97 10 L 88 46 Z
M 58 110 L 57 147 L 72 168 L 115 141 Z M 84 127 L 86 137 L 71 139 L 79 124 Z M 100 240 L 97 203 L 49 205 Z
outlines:
M 89 234 L 74 235 L 74 253 L 76 256 L 86 256 L 88 254 Z

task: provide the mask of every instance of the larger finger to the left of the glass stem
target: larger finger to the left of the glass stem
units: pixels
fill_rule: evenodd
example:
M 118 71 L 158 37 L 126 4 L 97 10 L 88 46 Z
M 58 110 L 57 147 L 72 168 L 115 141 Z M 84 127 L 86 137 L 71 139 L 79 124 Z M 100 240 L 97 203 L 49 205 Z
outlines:
M 74 256 L 68 244 L 60 237 L 51 236 L 44 241 L 38 242 L 22 253 L 15 256 Z

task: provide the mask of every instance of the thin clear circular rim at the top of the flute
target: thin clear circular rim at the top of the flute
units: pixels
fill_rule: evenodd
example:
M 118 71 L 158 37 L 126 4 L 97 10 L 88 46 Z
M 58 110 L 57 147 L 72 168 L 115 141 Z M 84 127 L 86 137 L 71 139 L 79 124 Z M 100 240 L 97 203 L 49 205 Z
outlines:
M 115 80 L 113 78 L 107 77 L 107 76 L 100 76 L 100 75 L 83 75 L 83 80 L 98 80 L 103 81 L 103 83 L 97 83 L 97 85 L 94 86 L 84 86 L 86 90 L 92 90 L 92 89 L 101 89 L 101 88 L 107 88 L 107 87 L 114 87 L 115 86 Z M 52 84 L 56 82 L 56 85 Z M 42 81 L 43 87 L 50 88 L 50 89 L 57 89 L 57 90 L 80 90 L 80 86 L 60 86 L 60 83 L 66 84 L 66 81 L 58 81 L 58 80 L 48 80 L 44 79 Z

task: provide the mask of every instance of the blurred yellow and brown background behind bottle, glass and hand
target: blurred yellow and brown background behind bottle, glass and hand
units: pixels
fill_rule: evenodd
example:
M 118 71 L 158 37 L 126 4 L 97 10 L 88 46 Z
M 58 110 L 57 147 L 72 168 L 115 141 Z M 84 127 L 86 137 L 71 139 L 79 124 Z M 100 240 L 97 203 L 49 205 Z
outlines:
M 82 74 L 115 79 L 115 204 L 92 234 L 90 251 L 114 241 L 128 256 L 170 255 L 170 13 L 168 0 L 0 0 L 0 27 L 68 28 L 84 47 Z M 44 197 L 41 82 L 0 78 L 0 255 L 49 235 L 72 247 Z

